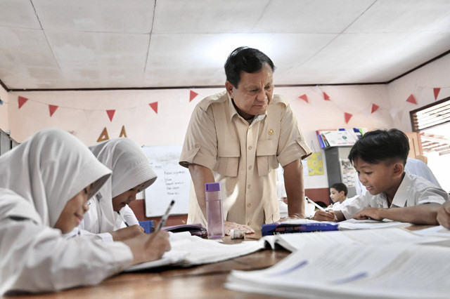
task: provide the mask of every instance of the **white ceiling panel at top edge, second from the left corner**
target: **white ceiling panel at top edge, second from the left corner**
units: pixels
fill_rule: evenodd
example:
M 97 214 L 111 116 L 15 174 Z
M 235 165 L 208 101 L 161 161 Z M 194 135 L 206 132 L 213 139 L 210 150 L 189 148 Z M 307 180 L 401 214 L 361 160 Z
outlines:
M 155 0 L 33 0 L 44 29 L 149 33 Z

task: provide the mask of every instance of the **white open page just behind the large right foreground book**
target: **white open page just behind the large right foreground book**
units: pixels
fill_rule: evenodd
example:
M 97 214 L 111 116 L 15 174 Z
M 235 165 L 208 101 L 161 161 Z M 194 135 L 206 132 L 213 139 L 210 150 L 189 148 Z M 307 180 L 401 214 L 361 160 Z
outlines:
M 338 244 L 420 244 L 440 241 L 437 237 L 423 237 L 401 228 L 386 228 L 384 230 L 345 230 L 334 232 L 309 232 L 304 234 L 276 234 L 260 239 L 266 245 L 275 245 L 296 251 L 309 246 L 335 246 Z

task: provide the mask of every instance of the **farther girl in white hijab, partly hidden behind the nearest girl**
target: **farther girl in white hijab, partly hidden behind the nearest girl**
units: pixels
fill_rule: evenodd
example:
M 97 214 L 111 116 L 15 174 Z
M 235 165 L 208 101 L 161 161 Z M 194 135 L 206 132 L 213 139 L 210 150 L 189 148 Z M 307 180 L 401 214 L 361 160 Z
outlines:
M 103 241 L 121 241 L 142 233 L 143 229 L 128 204 L 157 178 L 146 154 L 128 138 L 107 140 L 92 145 L 89 150 L 113 171 L 113 175 L 89 201 L 90 209 L 80 228 L 98 234 Z

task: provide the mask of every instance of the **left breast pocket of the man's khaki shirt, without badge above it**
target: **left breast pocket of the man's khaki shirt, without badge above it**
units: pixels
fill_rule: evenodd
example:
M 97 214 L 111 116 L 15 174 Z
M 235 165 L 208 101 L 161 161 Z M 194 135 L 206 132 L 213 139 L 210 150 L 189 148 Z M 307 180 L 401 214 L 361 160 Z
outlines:
M 224 142 L 217 149 L 219 159 L 216 164 L 216 171 L 221 175 L 238 176 L 240 144 L 236 141 Z

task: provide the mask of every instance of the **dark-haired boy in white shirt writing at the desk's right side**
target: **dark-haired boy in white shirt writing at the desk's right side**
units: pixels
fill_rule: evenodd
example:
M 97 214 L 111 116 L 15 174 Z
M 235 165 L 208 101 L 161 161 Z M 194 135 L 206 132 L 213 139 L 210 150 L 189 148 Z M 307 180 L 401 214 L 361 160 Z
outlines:
M 341 211 L 317 211 L 314 220 L 385 218 L 422 225 L 437 225 L 437 211 L 448 194 L 428 180 L 404 172 L 409 154 L 406 135 L 391 129 L 366 133 L 356 141 L 349 159 L 366 187 Z

